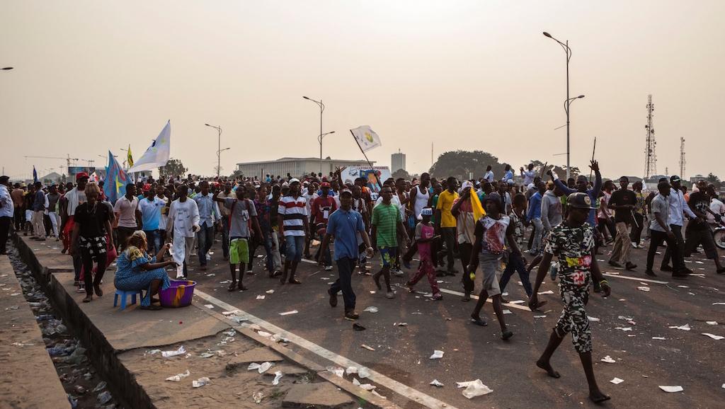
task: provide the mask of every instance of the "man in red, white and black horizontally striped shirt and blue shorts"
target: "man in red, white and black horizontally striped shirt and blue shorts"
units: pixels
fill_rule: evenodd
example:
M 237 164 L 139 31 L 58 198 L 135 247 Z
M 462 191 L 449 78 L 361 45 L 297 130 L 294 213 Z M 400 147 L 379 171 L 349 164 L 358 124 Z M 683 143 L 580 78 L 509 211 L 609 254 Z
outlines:
M 307 224 L 307 201 L 299 194 L 299 179 L 290 179 L 289 194 L 279 199 L 277 214 L 281 234 L 280 245 L 286 244 L 284 272 L 280 283 L 285 284 L 287 281 L 291 266 L 289 284 L 301 284 L 297 278 L 294 278 L 294 273 L 297 272 L 297 265 L 302 260 L 305 237 L 309 234 L 310 227 Z

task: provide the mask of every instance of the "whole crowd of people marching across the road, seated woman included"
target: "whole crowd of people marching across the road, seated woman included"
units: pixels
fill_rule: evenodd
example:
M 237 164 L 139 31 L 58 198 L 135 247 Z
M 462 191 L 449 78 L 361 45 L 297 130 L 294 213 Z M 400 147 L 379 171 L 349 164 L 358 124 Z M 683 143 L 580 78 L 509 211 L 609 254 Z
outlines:
M 507 165 L 496 178 L 489 166 L 478 179 L 423 173 L 412 180 L 380 181 L 373 189 L 367 178 L 344 180 L 341 168 L 325 177 L 148 176 L 125 186 L 115 203 L 104 197 L 103 182 L 89 183 L 86 173 L 65 186 L 11 186 L 2 176 L 0 253 L 11 229 L 33 240 L 62 240 L 62 252 L 72 256 L 78 292 L 86 294 L 83 302 L 103 294 L 104 271 L 117 260 L 116 288 L 145 289 L 141 307 L 151 310 L 160 308 L 153 296 L 170 285 L 168 267 L 176 279 L 185 280 L 194 278 L 192 260 L 206 271 L 212 257 L 223 257 L 231 273 L 228 290 L 235 292 L 247 289 L 244 276 L 255 274 L 257 251 L 265 256 L 268 277 L 281 285 L 302 284 L 297 270 L 305 258 L 324 270 L 336 265 L 339 278 L 328 290 L 329 302 L 336 307 L 341 292 L 344 318 L 351 321 L 359 318 L 352 284 L 356 270 L 371 276 L 389 299 L 395 298 L 393 277 L 407 276 L 402 287 L 410 292 L 427 278 L 432 299 L 440 300 L 437 278 L 460 275 L 461 299 L 470 301 L 481 274 L 470 320 L 487 325 L 480 313 L 491 298 L 503 340 L 513 336 L 502 311 L 510 278 L 518 274 L 529 307 L 537 310 L 544 304 L 537 292 L 548 275 L 559 281 L 563 312 L 537 365 L 558 377 L 550 358 L 571 333 L 590 397 L 599 402 L 608 396 L 595 381 L 585 306 L 590 287 L 605 295 L 611 289 L 596 255 L 611 247 L 609 265 L 637 270 L 632 249 L 643 248 L 649 238 L 643 273 L 656 276 L 655 255 L 666 243 L 659 270 L 687 279 L 692 270 L 684 258 L 701 245 L 717 273 L 724 273 L 711 229 L 721 223 L 725 205 L 705 181 L 688 192 L 673 175 L 660 179 L 656 191 L 644 191 L 640 181 L 629 189 L 626 176 L 619 186 L 602 181 L 594 160 L 590 168 L 593 177 L 564 181 L 550 170 L 537 173 L 533 165 L 520 168 L 519 175 Z M 218 235 L 222 254 L 212 255 Z M 166 253 L 170 260 L 164 260 Z M 380 265 L 373 271 L 368 259 L 375 253 Z M 532 283 L 529 275 L 537 267 Z M 413 271 L 407 275 L 403 268 Z

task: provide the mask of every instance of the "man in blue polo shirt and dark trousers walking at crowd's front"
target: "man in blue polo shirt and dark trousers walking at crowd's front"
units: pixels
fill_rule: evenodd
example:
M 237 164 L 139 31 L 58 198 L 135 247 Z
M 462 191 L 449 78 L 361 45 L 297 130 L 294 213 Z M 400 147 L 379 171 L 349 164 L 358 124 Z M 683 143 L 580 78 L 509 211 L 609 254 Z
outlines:
M 345 302 L 345 319 L 355 321 L 360 315 L 355 313 L 355 292 L 352 291 L 352 270 L 359 260 L 357 252 L 357 236 L 365 243 L 365 255 L 373 257 L 373 247 L 370 247 L 370 237 L 365 232 L 363 215 L 352 210 L 352 192 L 340 192 L 340 208 L 335 210 L 327 221 L 327 232 L 322 242 L 321 254 L 325 254 L 330 244 L 331 236 L 335 238 L 335 261 L 339 278 L 330 286 L 330 305 L 337 305 L 337 293 L 342 291 Z

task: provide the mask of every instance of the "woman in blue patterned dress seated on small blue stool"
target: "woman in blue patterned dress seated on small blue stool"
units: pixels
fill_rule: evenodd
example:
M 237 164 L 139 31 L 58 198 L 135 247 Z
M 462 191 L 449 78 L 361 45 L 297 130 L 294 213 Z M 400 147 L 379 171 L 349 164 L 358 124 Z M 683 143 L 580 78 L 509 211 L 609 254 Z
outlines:
M 156 295 L 159 289 L 169 288 L 169 276 L 166 273 L 166 266 L 176 266 L 173 261 L 157 260 L 163 259 L 169 245 L 161 247 L 156 257 L 149 257 L 146 253 L 148 244 L 144 231 L 134 231 L 128 239 L 128 246 L 123 250 L 116 262 L 116 276 L 113 280 L 116 289 L 130 292 L 146 290 L 146 297 L 141 299 L 142 310 L 160 310 L 160 305 L 152 305 L 152 295 Z M 157 299 L 154 299 L 156 302 Z

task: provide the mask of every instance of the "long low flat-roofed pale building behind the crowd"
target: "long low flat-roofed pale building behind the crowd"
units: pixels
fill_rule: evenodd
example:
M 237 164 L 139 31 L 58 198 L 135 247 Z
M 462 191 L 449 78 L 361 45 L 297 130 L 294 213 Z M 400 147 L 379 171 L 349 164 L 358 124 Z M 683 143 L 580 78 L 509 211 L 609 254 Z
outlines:
M 375 165 L 375 162 L 372 163 Z M 329 175 L 338 166 L 369 166 L 365 160 L 337 160 L 326 157 L 320 161 L 318 157 L 283 157 L 278 160 L 237 163 L 236 168 L 238 173 L 247 177 L 264 178 L 265 175 L 284 177 L 287 173 L 299 177 L 310 173 L 319 173 L 320 165 L 323 175 Z

